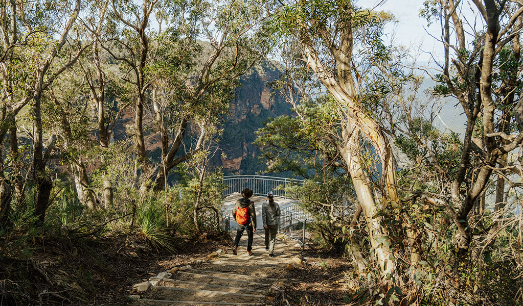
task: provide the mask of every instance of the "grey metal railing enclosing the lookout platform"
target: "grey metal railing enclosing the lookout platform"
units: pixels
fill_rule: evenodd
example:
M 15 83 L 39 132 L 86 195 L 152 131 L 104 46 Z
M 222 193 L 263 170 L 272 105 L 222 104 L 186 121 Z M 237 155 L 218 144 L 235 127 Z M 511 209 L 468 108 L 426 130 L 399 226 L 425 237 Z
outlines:
M 224 176 L 223 183 L 229 186 L 223 192 L 224 197 L 236 192 L 241 193 L 248 187 L 254 191 L 255 195 L 266 195 L 267 192 L 272 191 L 275 197 L 292 199 L 288 196 L 286 187 L 296 184 L 301 185 L 303 184 L 303 180 L 261 175 L 234 175 Z M 281 215 L 278 221 L 278 231 L 291 239 L 301 242 L 302 250 L 304 250 L 306 224 L 312 222 L 313 218 L 301 209 L 299 203 L 299 200 L 295 200 L 280 205 Z M 222 229 L 225 231 L 230 230 L 230 212 L 222 212 L 222 218 Z

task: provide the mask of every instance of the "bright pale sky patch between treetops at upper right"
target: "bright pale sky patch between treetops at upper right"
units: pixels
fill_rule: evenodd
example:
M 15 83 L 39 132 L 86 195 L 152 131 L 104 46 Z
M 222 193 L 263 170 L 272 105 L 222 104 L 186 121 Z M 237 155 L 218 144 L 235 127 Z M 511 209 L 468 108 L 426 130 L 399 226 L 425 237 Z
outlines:
M 356 4 L 371 9 L 381 2 L 382 0 L 359 0 Z M 438 25 L 427 27 L 427 21 L 418 16 L 423 2 L 424 0 L 387 0 L 376 7 L 376 10 L 389 11 L 397 19 L 394 26 L 388 29 L 389 33 L 394 30 L 394 36 L 388 34 L 387 38 L 393 38 L 397 44 L 413 47 L 414 51 L 419 53 L 419 62 L 426 64 L 431 60 L 427 52 L 439 57 L 442 45 L 427 33 L 428 31 L 431 35 L 439 37 L 441 29 Z

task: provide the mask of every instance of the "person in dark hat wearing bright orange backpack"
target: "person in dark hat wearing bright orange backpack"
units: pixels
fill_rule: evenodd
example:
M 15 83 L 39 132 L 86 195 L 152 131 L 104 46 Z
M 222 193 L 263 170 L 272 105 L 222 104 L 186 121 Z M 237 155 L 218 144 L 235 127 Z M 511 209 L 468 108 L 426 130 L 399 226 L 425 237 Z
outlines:
M 254 202 L 249 200 L 253 196 L 251 189 L 245 188 L 242 191 L 242 198 L 237 200 L 232 210 L 232 216 L 238 224 L 236 229 L 236 238 L 234 239 L 234 246 L 232 247 L 232 253 L 237 255 L 238 243 L 242 238 L 243 232 L 247 229 L 247 254 L 251 256 L 253 252 L 253 238 L 254 232 L 256 231 L 256 210 L 254 209 Z

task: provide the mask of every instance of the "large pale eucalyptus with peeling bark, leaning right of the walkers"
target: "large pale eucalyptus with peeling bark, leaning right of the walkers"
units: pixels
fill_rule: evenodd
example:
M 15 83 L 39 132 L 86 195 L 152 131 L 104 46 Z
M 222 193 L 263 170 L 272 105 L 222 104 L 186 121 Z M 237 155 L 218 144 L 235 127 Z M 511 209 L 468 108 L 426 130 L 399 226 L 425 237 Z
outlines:
M 397 274 L 396 263 L 378 212 L 381 205 L 401 205 L 394 157 L 382 126 L 357 98 L 359 74 L 354 67 L 353 50 L 358 43 L 355 40 L 358 28 L 386 20 L 388 16 L 360 10 L 349 0 L 322 4 L 288 2 L 278 7 L 277 16 L 275 28 L 284 40 L 296 42 L 299 50 L 296 56 L 313 72 L 314 79 L 336 105 L 342 141 L 335 145 L 361 205 L 380 276 L 383 281 L 390 281 L 387 279 Z M 382 167 L 382 188 L 378 192 L 365 171 L 362 140 L 372 145 Z

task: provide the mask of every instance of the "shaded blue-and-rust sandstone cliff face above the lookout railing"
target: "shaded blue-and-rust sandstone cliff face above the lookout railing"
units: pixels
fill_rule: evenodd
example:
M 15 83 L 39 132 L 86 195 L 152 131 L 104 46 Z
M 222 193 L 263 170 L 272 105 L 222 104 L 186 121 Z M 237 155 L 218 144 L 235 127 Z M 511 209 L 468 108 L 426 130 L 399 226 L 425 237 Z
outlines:
M 268 85 L 281 73 L 274 63 L 266 62 L 242 77 L 224 124 L 220 149 L 225 157 L 215 161 L 225 174 L 255 174 L 265 169 L 256 158 L 259 149 L 252 142 L 264 121 L 290 112 L 289 105 Z

